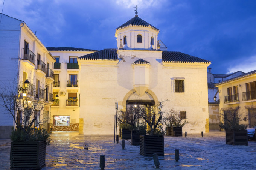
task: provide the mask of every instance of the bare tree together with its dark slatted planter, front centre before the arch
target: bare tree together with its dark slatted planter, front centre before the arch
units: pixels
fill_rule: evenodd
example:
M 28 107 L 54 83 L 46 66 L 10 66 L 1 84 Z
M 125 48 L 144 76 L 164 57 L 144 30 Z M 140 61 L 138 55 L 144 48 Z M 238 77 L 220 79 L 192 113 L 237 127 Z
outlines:
M 163 102 L 154 106 L 137 106 L 139 116 L 149 127 L 149 135 L 140 135 L 140 154 L 143 156 L 152 156 L 157 153 L 158 156 L 164 156 L 164 138 L 162 133 Z

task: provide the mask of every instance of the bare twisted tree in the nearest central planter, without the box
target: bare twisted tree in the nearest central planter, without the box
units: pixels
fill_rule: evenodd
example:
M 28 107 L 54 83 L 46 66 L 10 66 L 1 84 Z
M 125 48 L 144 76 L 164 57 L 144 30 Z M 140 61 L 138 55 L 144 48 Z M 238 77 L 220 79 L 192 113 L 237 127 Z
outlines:
M 139 116 L 148 124 L 150 127 L 150 135 L 158 134 L 160 125 L 164 122 L 163 115 L 165 111 L 163 110 L 163 103 L 165 101 L 159 102 L 157 105 L 151 107 L 138 106 Z

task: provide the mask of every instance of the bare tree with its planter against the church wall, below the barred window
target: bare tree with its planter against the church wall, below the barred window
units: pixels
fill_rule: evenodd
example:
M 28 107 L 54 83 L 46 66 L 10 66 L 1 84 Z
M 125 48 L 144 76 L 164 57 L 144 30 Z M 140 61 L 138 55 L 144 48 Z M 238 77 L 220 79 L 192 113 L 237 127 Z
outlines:
M 176 111 L 171 109 L 165 116 L 166 135 L 167 136 L 182 136 L 182 127 L 189 123 L 186 119 L 186 112 Z

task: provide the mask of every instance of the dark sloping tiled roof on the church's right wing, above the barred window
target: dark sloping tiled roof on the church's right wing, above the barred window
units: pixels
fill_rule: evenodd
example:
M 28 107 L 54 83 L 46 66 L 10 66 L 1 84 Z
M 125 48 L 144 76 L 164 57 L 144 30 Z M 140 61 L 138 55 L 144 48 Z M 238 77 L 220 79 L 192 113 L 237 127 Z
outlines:
M 210 63 L 208 60 L 173 51 L 163 51 L 162 60 L 167 63 Z

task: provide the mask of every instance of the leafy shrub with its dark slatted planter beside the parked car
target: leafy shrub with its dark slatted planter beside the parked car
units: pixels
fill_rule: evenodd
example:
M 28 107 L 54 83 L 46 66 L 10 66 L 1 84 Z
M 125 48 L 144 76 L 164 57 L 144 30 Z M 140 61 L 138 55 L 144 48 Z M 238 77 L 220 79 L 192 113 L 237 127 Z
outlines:
M 247 125 L 239 124 L 244 116 L 239 106 L 230 107 L 221 113 L 219 127 L 225 129 L 226 144 L 248 145 Z

